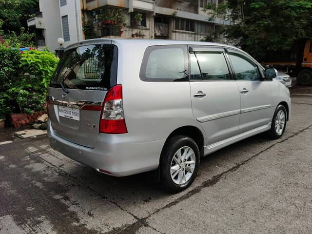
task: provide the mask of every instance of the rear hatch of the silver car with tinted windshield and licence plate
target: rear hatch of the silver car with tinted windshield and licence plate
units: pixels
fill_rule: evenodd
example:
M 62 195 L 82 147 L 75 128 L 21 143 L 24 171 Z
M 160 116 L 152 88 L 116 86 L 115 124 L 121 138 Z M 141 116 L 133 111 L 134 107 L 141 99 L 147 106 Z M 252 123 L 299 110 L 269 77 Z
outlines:
M 110 43 L 65 51 L 47 96 L 57 136 L 82 146 L 95 146 L 103 100 L 117 83 L 117 55 L 117 47 Z

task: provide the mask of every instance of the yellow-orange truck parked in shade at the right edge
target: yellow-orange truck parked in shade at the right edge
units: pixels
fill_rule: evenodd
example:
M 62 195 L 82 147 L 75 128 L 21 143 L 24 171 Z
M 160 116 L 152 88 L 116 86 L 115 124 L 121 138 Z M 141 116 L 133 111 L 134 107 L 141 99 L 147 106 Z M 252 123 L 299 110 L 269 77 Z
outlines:
M 295 41 L 289 51 L 269 52 L 262 64 L 296 77 L 299 85 L 312 85 L 312 39 Z

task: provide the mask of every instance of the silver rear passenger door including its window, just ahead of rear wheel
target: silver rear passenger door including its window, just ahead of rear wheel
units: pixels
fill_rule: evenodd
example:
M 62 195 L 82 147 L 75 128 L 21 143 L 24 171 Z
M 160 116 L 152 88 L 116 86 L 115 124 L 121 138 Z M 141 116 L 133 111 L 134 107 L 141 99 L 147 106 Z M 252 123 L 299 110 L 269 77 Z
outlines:
M 205 129 L 208 145 L 239 131 L 240 97 L 222 47 L 190 47 L 191 99 L 195 119 Z

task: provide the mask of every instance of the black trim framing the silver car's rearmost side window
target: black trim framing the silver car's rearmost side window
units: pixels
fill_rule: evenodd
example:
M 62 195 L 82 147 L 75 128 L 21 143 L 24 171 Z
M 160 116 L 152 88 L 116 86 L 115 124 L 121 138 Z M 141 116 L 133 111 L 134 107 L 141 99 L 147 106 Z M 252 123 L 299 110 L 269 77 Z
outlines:
M 148 58 L 150 56 L 150 54 L 152 53 L 152 51 L 156 50 L 156 49 L 165 49 L 165 48 L 180 48 L 183 50 L 183 55 L 184 55 L 184 68 L 185 68 L 185 74 L 187 75 L 186 80 L 174 80 L 172 78 L 148 78 L 145 75 L 146 72 L 146 67 L 147 67 L 147 61 Z M 148 46 L 145 49 L 144 55 L 143 55 L 143 59 L 141 62 L 141 68 L 140 68 L 140 72 L 139 72 L 139 78 L 142 81 L 145 82 L 189 82 L 189 59 L 188 59 L 188 50 L 187 50 L 187 45 L 183 45 L 183 44 L 177 44 L 177 45 L 152 45 L 152 46 Z

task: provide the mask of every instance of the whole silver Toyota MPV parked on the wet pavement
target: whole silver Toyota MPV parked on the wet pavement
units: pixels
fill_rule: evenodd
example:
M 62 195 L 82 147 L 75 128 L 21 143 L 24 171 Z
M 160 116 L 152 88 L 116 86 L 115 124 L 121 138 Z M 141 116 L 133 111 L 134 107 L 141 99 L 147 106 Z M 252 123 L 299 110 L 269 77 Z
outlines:
M 78 42 L 48 88 L 50 144 L 111 176 L 156 170 L 167 191 L 179 192 L 201 156 L 262 132 L 283 135 L 291 98 L 275 77 L 224 44 Z

